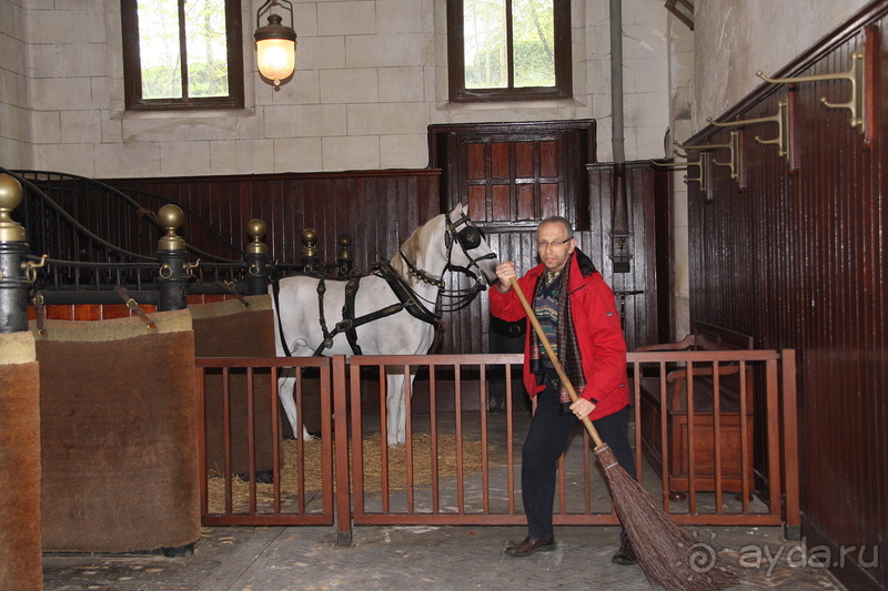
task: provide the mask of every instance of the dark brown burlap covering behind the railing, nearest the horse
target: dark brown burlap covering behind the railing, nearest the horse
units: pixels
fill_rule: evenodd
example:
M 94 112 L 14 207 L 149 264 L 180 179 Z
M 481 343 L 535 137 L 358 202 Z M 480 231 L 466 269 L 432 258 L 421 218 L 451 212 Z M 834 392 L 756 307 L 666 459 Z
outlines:
M 249 307 L 238 299 L 191 307 L 196 357 L 274 357 L 274 313 L 269 296 L 246 297 Z M 210 470 L 224 471 L 222 375 L 208 373 L 204 380 L 206 414 L 206 461 Z M 271 470 L 274 465 L 272 442 L 271 374 L 253 376 L 254 469 Z M 231 470 L 246 475 L 248 455 L 246 374 L 232 369 L 229 380 L 231 406 Z M 283 416 L 283 412 L 281 412 Z M 286 420 L 282 421 L 286 424 Z M 280 441 L 279 441 L 280 445 Z M 281 454 L 283 462 L 283 454 Z

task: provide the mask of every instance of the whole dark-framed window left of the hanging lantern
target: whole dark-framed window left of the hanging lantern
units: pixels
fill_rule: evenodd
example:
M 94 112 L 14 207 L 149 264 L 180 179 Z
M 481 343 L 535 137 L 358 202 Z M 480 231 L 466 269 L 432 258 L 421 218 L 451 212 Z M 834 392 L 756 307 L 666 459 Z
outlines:
M 241 0 L 122 0 L 128 110 L 242 109 Z

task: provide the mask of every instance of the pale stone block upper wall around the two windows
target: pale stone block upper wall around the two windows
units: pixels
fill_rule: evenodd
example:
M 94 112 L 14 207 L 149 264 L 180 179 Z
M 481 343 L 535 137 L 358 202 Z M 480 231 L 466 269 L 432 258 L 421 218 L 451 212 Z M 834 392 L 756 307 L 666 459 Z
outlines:
M 612 160 L 608 0 L 572 1 L 572 100 L 484 105 L 447 101 L 444 0 L 295 1 L 296 72 L 280 92 L 256 73 L 261 2 L 245 0 L 246 108 L 189 114 L 125 112 L 119 0 L 2 6 L 23 21 L 27 41 L 7 44 L 27 69 L 3 51 L 0 70 L 26 75 L 30 99 L 0 94 L 0 137 L 12 124 L 33 130 L 0 144 L 7 167 L 100 179 L 425 167 L 433 123 L 588 118 L 599 122 L 598 159 Z M 636 160 L 659 153 L 667 126 L 667 12 L 660 0 L 623 12 L 626 157 Z

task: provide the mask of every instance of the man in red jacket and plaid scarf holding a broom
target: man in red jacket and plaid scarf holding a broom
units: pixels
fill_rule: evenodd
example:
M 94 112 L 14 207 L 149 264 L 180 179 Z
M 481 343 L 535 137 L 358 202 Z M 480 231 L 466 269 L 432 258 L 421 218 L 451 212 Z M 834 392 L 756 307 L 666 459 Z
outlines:
M 513 557 L 555 549 L 552 506 L 556 462 L 571 429 L 583 417 L 589 417 L 619 465 L 635 478 L 628 440 L 626 340 L 614 293 L 576 247 L 571 223 L 564 217 L 541 222 L 536 247 L 541 264 L 518 279 L 518 285 L 579 399 L 571 401 L 528 320 L 524 385 L 537 406 L 522 448 L 522 496 L 528 531 L 524 541 L 506 548 Z M 521 300 L 512 293 L 512 279 L 517 278 L 515 263 L 501 263 L 496 275 L 500 284 L 491 291 L 491 313 L 507 322 L 526 318 Z M 636 561 L 625 530 L 613 561 Z

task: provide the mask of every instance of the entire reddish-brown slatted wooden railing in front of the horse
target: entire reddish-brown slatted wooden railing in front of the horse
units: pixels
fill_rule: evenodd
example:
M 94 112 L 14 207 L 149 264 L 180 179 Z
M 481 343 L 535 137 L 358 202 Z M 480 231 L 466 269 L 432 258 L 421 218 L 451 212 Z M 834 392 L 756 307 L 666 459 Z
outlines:
M 208 371 L 271 371 L 273 377 L 285 368 L 317 368 L 320 390 L 312 404 L 321 405 L 320 441 L 285 441 L 293 447 L 291 457 L 300 485 L 287 489 L 281 482 L 294 468 L 275 460 L 273 485 L 245 486 L 245 500 L 240 509 L 233 499 L 232 475 L 211 475 L 204 462 L 204 480 L 222 478 L 224 498 L 218 501 L 223 510 L 208 512 L 208 487 L 202 488 L 205 523 L 297 523 L 310 522 L 312 514 L 330 516 L 335 489 L 335 521 L 341 540 L 351 539 L 353 524 L 522 524 L 519 468 L 521 446 L 529 422 L 531 409 L 519 373 L 522 355 L 422 355 L 353 356 L 307 359 L 198 359 L 198 383 Z M 629 371 L 640 375 L 646 366 L 675 364 L 741 363 L 760 373 L 767 401 L 755 414 L 767 426 L 767 490 L 744 490 L 734 495 L 720 488 L 697 490 L 692 485 L 680 502 L 668 495 L 669 473 L 664 463 L 654 470 L 643 462 L 640 388 L 634 387 L 634 447 L 639 466 L 639 481 L 652 498 L 660 498 L 672 518 L 685 524 L 784 524 L 789 532 L 799 524 L 797 482 L 797 428 L 795 353 L 793 350 L 748 351 L 655 351 L 628 354 Z M 305 369 L 302 370 L 303 374 Z M 411 437 L 405 445 L 386 442 L 386 386 L 391 371 L 416 374 L 406 397 L 406 428 Z M 327 381 L 324 376 L 330 375 Z M 496 376 L 495 376 L 496 375 Z M 488 410 L 491 384 L 505 384 L 504 411 Z M 305 378 L 296 387 L 300 410 L 307 410 Z M 310 379 L 310 378 L 309 378 Z M 275 379 L 270 391 L 256 396 L 276 396 Z M 664 385 L 665 387 L 665 385 Z M 250 388 L 252 391 L 252 388 Z M 204 393 L 199 388 L 200 405 Z M 662 397 L 665 400 L 665 397 Z M 274 420 L 280 412 L 273 414 Z M 716 414 L 718 409 L 716 408 Z M 693 409 L 690 412 L 693 425 Z M 332 418 L 331 418 L 332 417 Z M 745 417 L 741 420 L 747 420 Z M 751 420 L 751 418 L 749 419 Z M 249 422 L 249 421 L 248 421 Z M 250 424 L 250 422 L 249 422 Z M 236 426 L 231 425 L 231 428 Z M 275 422 L 273 426 L 278 429 Z M 659 425 L 666 440 L 666 421 Z M 559 460 L 554 521 L 556 524 L 616 524 L 606 480 L 595 465 L 588 435 L 577 429 Z M 716 430 L 715 437 L 722 434 Z M 274 440 L 278 440 L 276 432 Z M 737 442 L 729 442 L 736 445 Z M 697 446 L 697 448 L 699 445 Z M 311 448 L 311 449 L 310 449 Z M 316 448 L 316 449 L 315 449 Z M 692 448 L 693 449 L 693 448 Z M 321 454 L 323 473 L 315 481 L 317 499 L 305 485 L 312 460 Z M 694 452 L 690 454 L 692 470 Z M 206 457 L 202 444 L 202 458 Z M 252 456 L 251 447 L 251 456 Z M 331 455 L 331 456 L 327 456 Z M 327 457 L 332 458 L 330 467 Z M 290 461 L 290 459 L 287 460 Z M 751 463 L 749 463 L 751 466 Z M 751 469 L 744 463 L 744 470 Z M 716 460 L 716 471 L 720 465 Z M 743 479 L 744 482 L 747 478 Z M 692 479 L 693 482 L 693 479 Z M 265 491 L 263 492 L 263 487 Z M 261 495 L 270 500 L 264 501 Z M 320 499 L 320 500 L 319 500 Z M 289 508 L 289 509 L 287 509 Z M 311 518 L 311 519 L 310 519 Z M 321 518 L 319 518 L 321 519 Z

